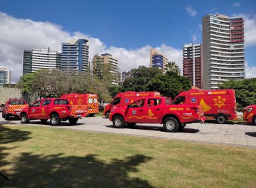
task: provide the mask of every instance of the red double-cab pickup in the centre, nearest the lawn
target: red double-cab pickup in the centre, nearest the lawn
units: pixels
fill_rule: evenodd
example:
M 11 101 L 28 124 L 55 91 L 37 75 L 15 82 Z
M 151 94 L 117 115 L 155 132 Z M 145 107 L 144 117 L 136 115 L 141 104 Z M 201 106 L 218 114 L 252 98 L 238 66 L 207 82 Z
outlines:
M 167 132 L 173 133 L 186 123 L 205 121 L 201 105 L 173 105 L 169 97 L 145 97 L 131 105 L 115 108 L 109 120 L 114 128 L 134 126 L 136 123 L 163 123 Z

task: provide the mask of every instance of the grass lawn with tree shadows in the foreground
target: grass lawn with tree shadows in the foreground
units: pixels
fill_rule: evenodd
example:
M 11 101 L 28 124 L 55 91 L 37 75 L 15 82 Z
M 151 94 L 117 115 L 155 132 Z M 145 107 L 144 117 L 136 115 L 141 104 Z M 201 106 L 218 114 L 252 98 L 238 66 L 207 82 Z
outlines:
M 256 187 L 256 149 L 0 125 L 0 187 Z

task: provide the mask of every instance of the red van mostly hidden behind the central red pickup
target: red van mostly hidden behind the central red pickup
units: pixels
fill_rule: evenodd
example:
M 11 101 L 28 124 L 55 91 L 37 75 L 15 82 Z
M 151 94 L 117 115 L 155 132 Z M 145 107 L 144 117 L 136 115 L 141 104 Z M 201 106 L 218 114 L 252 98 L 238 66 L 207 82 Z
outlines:
M 113 101 L 111 103 L 106 105 L 106 107 L 104 108 L 103 114 L 107 118 L 109 118 L 109 113 L 111 112 L 111 110 L 113 108 L 129 105 L 129 104 L 133 103 L 134 101 L 136 101 L 138 98 L 146 97 L 146 96 L 158 97 L 158 96 L 161 96 L 161 94 L 159 92 L 131 92 L 131 91 L 118 93 L 115 96 L 115 99 L 113 99 Z

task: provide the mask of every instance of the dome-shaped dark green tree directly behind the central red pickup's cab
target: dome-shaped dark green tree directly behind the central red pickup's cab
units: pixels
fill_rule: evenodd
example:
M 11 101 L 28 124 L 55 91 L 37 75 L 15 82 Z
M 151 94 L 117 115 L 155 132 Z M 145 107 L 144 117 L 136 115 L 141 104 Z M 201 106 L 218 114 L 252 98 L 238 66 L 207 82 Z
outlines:
M 157 91 L 163 96 L 174 99 L 181 90 L 191 89 L 189 78 L 179 76 L 176 71 L 167 71 L 166 74 L 157 75 L 147 84 L 147 91 Z

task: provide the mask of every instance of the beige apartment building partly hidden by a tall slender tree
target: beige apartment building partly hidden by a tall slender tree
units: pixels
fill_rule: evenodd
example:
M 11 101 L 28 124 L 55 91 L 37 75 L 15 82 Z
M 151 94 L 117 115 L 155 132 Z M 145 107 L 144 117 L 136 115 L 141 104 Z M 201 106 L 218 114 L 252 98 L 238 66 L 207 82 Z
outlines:
M 109 69 L 105 69 L 105 65 L 110 65 Z M 93 57 L 93 74 L 102 79 L 104 71 L 109 71 L 113 75 L 112 85 L 118 85 L 118 59 L 109 53 Z

